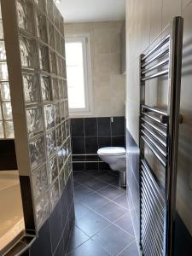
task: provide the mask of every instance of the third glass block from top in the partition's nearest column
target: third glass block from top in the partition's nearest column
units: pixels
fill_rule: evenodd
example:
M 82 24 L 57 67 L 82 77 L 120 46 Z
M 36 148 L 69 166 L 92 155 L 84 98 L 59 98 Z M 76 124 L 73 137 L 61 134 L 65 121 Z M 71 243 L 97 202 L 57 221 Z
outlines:
M 23 73 L 22 77 L 25 102 L 40 102 L 38 75 Z

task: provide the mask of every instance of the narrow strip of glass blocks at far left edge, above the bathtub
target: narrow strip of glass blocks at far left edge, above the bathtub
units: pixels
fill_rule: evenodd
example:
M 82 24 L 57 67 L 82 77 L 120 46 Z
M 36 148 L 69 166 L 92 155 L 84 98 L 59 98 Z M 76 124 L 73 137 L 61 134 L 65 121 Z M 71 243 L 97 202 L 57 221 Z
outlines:
M 9 75 L 4 45 L 3 20 L 0 9 L 0 140 L 14 138 L 14 125 L 10 102 Z

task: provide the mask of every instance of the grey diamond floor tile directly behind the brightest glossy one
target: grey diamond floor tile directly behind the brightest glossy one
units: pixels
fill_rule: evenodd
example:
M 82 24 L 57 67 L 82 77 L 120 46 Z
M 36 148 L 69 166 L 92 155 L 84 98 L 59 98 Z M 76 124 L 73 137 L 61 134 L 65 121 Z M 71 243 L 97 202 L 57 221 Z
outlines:
M 96 192 L 93 192 L 92 194 L 87 195 L 86 198 L 80 200 L 79 202 L 92 209 L 96 209 L 107 204 L 109 201 L 102 195 L 98 195 Z

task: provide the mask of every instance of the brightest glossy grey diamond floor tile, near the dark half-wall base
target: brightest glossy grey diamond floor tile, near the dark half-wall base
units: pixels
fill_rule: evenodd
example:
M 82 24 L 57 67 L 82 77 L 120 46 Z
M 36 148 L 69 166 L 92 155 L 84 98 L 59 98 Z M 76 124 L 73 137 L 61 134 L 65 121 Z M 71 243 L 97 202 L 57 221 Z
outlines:
M 76 220 L 76 225 L 88 236 L 94 236 L 97 232 L 107 227 L 110 222 L 99 214 L 91 212 L 83 218 Z

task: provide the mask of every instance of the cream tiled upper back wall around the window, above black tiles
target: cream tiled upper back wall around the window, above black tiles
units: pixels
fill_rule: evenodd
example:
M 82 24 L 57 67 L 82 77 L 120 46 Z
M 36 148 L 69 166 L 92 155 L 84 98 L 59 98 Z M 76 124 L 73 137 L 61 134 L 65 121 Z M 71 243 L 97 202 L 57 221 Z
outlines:
M 122 21 L 71 23 L 65 34 L 90 33 L 93 111 L 91 117 L 125 115 L 125 75 L 120 74 Z

